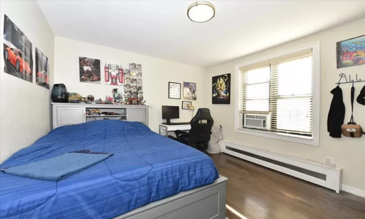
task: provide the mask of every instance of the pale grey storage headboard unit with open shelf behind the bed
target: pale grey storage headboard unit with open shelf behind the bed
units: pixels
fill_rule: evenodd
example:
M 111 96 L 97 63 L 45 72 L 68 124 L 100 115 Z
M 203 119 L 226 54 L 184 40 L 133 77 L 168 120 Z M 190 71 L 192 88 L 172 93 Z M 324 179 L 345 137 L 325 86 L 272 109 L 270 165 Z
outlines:
M 72 104 L 52 103 L 53 129 L 60 126 L 86 123 L 99 119 L 119 119 L 141 122 L 148 126 L 148 106 L 146 105 L 112 105 L 112 104 Z M 87 115 L 87 110 L 115 112 L 121 115 Z

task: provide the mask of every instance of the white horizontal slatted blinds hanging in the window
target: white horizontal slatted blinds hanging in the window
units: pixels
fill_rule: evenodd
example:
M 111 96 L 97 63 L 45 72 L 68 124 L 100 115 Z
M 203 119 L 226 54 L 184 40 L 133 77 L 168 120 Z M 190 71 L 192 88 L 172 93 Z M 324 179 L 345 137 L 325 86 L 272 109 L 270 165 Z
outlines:
M 312 50 L 240 68 L 241 113 L 268 114 L 269 130 L 311 135 Z

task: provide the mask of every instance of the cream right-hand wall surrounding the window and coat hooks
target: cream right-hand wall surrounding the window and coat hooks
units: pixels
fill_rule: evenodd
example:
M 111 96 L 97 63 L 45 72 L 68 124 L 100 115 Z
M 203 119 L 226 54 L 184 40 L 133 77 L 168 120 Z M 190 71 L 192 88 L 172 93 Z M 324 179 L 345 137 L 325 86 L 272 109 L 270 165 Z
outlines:
M 336 69 L 336 42 L 351 37 L 364 35 L 365 19 L 346 24 L 319 34 L 305 37 L 269 50 L 247 55 L 233 61 L 229 61 L 218 66 L 207 69 L 208 78 L 223 73 L 231 73 L 231 104 L 230 105 L 213 105 L 211 98 L 207 98 L 206 106 L 211 109 L 212 116 L 216 125 L 221 125 L 223 130 L 223 139 L 238 144 L 270 150 L 282 154 L 287 154 L 302 159 L 325 162 L 326 157 L 333 157 L 336 165 L 343 168 L 343 184 L 365 190 L 365 136 L 362 138 L 335 139 L 329 137 L 327 132 L 327 115 L 329 111 L 332 94 L 330 91 L 336 86 L 339 80 L 339 73 L 351 74 L 351 78 L 358 77 L 365 80 L 365 65 Z M 270 37 L 269 37 L 270 38 Z M 269 39 L 268 39 L 269 40 Z M 236 133 L 234 113 L 235 113 L 235 65 L 255 60 L 259 57 L 269 56 L 290 50 L 295 47 L 303 46 L 308 43 L 320 41 L 321 53 L 321 112 L 320 112 L 320 146 L 302 145 L 292 142 L 268 139 L 253 135 Z M 206 80 L 206 93 L 211 95 L 211 80 Z M 209 86 L 208 86 L 209 85 Z M 356 95 L 359 94 L 365 83 L 355 83 Z M 350 88 L 351 84 L 341 85 L 344 92 L 344 102 L 346 106 L 347 123 L 351 115 Z M 356 100 L 355 100 L 356 101 Z M 365 106 L 358 103 L 354 104 L 355 122 L 365 128 Z

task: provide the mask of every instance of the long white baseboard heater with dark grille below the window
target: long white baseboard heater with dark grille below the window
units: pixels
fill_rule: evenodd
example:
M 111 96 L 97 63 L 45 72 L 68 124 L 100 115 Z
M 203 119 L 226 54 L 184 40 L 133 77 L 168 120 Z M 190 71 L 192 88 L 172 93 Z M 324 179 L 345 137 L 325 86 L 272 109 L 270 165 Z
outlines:
M 342 168 L 238 145 L 225 140 L 221 141 L 221 151 L 310 183 L 333 189 L 337 193 L 341 191 Z

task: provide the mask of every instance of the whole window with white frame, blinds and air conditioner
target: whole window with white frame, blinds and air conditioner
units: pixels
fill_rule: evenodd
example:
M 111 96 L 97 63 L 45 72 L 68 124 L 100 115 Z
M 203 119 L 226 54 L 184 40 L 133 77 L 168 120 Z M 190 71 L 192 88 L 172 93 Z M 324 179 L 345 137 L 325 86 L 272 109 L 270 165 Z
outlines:
M 237 132 L 318 145 L 318 44 L 237 66 Z

